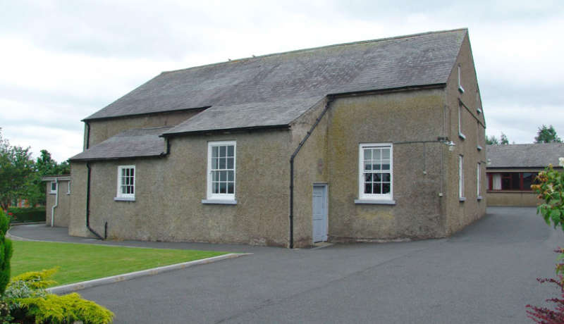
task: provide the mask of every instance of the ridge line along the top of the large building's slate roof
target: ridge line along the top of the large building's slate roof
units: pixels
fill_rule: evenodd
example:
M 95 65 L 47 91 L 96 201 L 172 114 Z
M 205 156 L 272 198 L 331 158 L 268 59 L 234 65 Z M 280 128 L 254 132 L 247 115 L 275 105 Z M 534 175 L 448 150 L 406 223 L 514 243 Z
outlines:
M 453 29 L 453 30 L 436 30 L 436 31 L 431 31 L 431 32 L 419 32 L 419 33 L 416 33 L 416 34 L 409 34 L 409 35 L 401 35 L 401 36 L 393 36 L 393 37 L 383 37 L 383 38 L 377 38 L 377 39 L 367 39 L 367 40 L 357 41 L 357 42 L 348 42 L 348 43 L 331 44 L 331 45 L 324 45 L 324 46 L 317 46 L 317 47 L 309 47 L 309 48 L 307 48 L 307 49 L 294 49 L 294 50 L 292 50 L 292 51 L 281 51 L 281 52 L 277 52 L 277 53 L 264 54 L 264 55 L 259 55 L 259 56 L 251 56 L 251 57 L 244 57 L 244 58 L 235 58 L 235 59 L 230 60 L 230 61 L 223 61 L 223 62 L 217 62 L 217 63 L 209 63 L 209 64 L 204 64 L 204 65 L 202 65 L 202 66 L 191 66 L 190 68 L 180 68 L 180 69 L 178 69 L 178 70 L 162 71 L 162 72 L 161 72 L 161 75 L 167 74 L 167 73 L 180 72 L 180 71 L 184 71 L 184 70 L 192 70 L 192 69 L 196 69 L 196 68 L 207 68 L 207 67 L 210 67 L 210 66 L 220 66 L 220 65 L 223 65 L 223 64 L 235 63 L 235 62 L 247 61 L 247 60 L 253 60 L 253 59 L 257 59 L 257 58 L 265 58 L 265 57 L 275 56 L 275 55 L 283 55 L 283 54 L 298 53 L 298 52 L 302 52 L 302 51 L 313 51 L 313 50 L 317 50 L 317 49 L 327 49 L 327 48 L 330 48 L 330 47 L 337 47 L 337 46 L 348 46 L 348 45 L 357 45 L 357 44 L 367 44 L 367 43 L 375 43 L 375 42 L 384 42 L 384 41 L 389 41 L 389 40 L 394 40 L 394 39 L 403 39 L 403 38 L 419 37 L 419 36 L 433 35 L 433 34 L 441 34 L 441 33 L 447 33 L 447 32 L 458 32 L 458 31 L 462 31 L 462 30 L 466 30 L 466 32 L 468 32 L 468 28 L 467 28 L 467 27 L 462 27 L 462 28 L 456 28 L 456 29 Z

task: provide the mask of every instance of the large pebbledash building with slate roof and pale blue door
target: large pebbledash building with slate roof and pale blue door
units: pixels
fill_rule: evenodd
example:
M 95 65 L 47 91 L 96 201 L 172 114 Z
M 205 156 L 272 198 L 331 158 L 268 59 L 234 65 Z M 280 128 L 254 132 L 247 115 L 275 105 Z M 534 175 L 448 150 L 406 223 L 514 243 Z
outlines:
M 307 247 L 485 213 L 466 29 L 164 72 L 83 121 L 70 235 Z

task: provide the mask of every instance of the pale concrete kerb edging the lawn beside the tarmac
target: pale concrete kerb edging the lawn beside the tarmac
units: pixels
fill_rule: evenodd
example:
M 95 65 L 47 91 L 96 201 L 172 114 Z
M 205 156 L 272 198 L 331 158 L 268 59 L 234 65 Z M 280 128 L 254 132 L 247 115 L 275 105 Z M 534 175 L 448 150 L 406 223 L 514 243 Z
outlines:
M 132 280 L 135 278 L 145 277 L 147 275 L 158 275 L 159 273 L 165 273 L 173 270 L 180 270 L 192 266 L 198 266 L 200 264 L 213 263 L 221 260 L 226 260 L 228 258 L 238 258 L 240 256 L 247 256 L 247 255 L 252 255 L 252 253 L 223 254 L 222 256 L 212 256 L 211 258 L 202 258 L 201 260 L 171 264 L 170 266 L 161 266 L 158 268 L 135 271 L 133 273 L 124 273 L 123 275 L 112 275 L 111 277 L 106 277 L 106 278 L 75 282 L 69 285 L 47 288 L 47 292 L 51 292 L 52 294 L 67 294 L 69 292 L 75 292 L 81 289 L 97 287 L 102 285 L 109 285 L 115 282 L 121 282 L 125 280 Z

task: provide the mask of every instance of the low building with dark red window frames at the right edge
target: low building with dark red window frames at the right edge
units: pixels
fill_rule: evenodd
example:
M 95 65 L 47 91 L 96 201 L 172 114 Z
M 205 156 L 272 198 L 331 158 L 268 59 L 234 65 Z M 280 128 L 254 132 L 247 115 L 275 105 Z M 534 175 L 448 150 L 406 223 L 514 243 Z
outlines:
M 541 203 L 531 185 L 548 164 L 555 169 L 564 156 L 563 143 L 488 145 L 488 206 L 537 206 Z

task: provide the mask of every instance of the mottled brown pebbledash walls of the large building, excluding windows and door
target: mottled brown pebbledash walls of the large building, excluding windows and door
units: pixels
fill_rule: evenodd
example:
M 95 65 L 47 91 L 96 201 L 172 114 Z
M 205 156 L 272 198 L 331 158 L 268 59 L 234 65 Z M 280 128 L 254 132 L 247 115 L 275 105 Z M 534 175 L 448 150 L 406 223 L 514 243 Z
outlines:
M 107 235 L 115 239 L 287 247 L 289 158 L 326 104 L 327 113 L 295 159 L 295 247 L 312 244 L 315 182 L 329 187 L 330 241 L 446 237 L 484 216 L 485 123 L 466 37 L 446 87 L 329 96 L 288 130 L 182 135 L 169 139 L 165 157 L 91 161 L 91 227 L 103 234 L 107 222 Z M 164 124 L 150 123 L 157 125 Z M 113 135 L 130 126 L 118 129 L 114 120 L 92 120 L 90 138 L 101 142 L 111 136 L 109 128 Z M 235 205 L 202 204 L 207 143 L 215 141 L 236 141 Z M 395 204 L 358 203 L 363 143 L 392 145 Z M 127 165 L 135 165 L 135 201 L 114 201 L 118 166 Z M 92 236 L 85 227 L 86 163 L 74 161 L 71 168 L 69 234 Z

